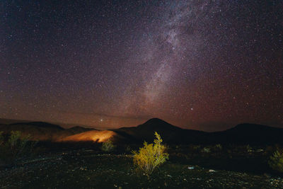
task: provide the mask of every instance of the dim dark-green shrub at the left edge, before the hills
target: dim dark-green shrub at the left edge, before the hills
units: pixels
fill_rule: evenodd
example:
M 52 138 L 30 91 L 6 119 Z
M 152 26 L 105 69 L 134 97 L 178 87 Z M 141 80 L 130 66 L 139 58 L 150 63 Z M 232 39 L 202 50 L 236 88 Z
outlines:
M 0 134 L 0 160 L 6 165 L 15 164 L 18 159 L 29 155 L 35 143 L 30 142 L 29 136 L 22 136 L 19 131 L 12 131 L 8 140 L 4 141 L 3 134 Z

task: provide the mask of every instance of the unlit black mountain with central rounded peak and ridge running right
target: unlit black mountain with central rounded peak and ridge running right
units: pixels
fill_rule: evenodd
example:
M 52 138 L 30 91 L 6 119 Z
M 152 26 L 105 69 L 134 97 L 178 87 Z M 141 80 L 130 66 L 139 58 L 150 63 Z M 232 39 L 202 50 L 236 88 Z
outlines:
M 164 142 L 172 144 L 271 144 L 283 142 L 283 129 L 265 125 L 240 124 L 221 132 L 202 132 L 175 127 L 158 118 L 153 118 L 137 127 L 122 127 L 112 130 L 134 142 L 152 142 L 154 132 L 161 134 Z

